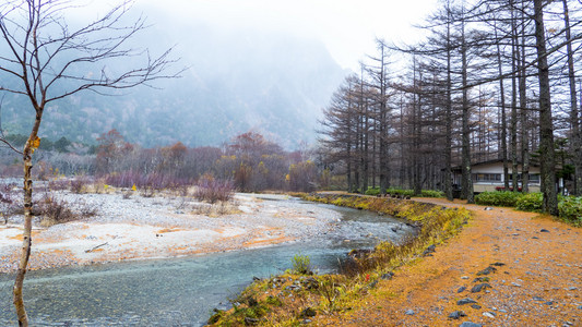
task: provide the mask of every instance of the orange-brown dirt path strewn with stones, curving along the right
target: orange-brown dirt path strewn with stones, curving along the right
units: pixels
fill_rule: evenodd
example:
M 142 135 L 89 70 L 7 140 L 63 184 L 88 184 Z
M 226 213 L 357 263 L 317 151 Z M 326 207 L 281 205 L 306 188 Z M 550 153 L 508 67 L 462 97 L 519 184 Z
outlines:
M 432 256 L 380 280 L 360 307 L 316 325 L 582 326 L 582 229 L 510 208 L 418 201 L 475 216 Z

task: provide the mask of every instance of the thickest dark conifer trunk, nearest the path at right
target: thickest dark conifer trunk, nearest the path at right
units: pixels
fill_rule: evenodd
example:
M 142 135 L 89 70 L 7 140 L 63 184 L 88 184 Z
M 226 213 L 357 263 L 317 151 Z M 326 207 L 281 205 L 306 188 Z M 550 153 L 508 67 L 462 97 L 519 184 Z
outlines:
M 539 161 L 542 164 L 542 192 L 544 193 L 543 210 L 550 215 L 558 215 L 554 122 L 551 119 L 549 66 L 543 10 L 543 0 L 534 0 L 535 40 L 539 80 Z

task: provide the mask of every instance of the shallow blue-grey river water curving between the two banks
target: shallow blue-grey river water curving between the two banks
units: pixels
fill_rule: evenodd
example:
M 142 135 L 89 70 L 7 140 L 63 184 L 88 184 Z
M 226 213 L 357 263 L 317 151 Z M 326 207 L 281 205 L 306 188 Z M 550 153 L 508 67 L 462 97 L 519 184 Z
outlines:
M 313 204 L 306 204 L 313 205 Z M 271 247 L 194 257 L 134 261 L 29 271 L 24 296 L 33 326 L 201 326 L 212 310 L 253 277 L 292 268 L 308 255 L 316 271 L 337 269 L 352 249 L 399 242 L 414 232 L 403 220 L 321 205 L 342 214 L 337 228 L 320 238 Z M 0 326 L 17 325 L 13 275 L 0 275 Z

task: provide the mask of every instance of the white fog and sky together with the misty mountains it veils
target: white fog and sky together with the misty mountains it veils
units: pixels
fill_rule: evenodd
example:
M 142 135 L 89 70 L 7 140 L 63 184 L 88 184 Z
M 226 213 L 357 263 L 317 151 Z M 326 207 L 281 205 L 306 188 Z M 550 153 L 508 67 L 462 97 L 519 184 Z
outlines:
M 412 2 L 412 1 L 408 1 Z M 375 38 L 412 40 L 436 0 L 266 1 L 136 0 L 128 21 L 146 17 L 149 28 L 131 40 L 153 56 L 174 47 L 181 78 L 155 88 L 92 93 L 55 102 L 41 136 L 94 143 L 117 129 L 142 146 L 219 145 L 254 131 L 286 148 L 314 143 L 317 121 L 332 93 L 358 61 L 373 53 Z M 103 16 L 118 1 L 79 1 L 71 26 Z M 127 69 L 133 60 L 108 62 Z M 100 69 L 100 68 L 96 68 Z M 4 129 L 26 134 L 25 98 L 4 102 Z M 23 113 L 24 112 L 24 113 Z

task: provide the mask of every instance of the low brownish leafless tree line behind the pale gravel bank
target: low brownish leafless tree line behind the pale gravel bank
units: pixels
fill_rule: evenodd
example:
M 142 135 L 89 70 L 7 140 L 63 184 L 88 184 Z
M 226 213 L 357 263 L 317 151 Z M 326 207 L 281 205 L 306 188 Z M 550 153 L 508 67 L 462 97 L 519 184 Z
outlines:
M 19 137 L 8 137 L 9 140 Z M 44 180 L 59 175 L 85 175 L 123 180 L 123 185 L 140 181 L 166 184 L 193 184 L 201 178 L 231 181 L 241 192 L 289 190 L 309 192 L 328 186 L 314 161 L 316 153 L 307 149 L 286 152 L 256 132 L 247 132 L 221 147 L 188 147 L 181 142 L 143 148 L 126 141 L 117 130 L 103 133 L 96 145 L 61 138 L 40 140 L 35 159 L 36 177 Z M 17 142 L 14 143 L 19 145 Z M 45 145 L 46 144 L 46 145 Z M 49 147 L 51 145 L 51 147 Z M 0 164 L 2 175 L 20 173 L 21 167 L 5 157 Z M 112 178 L 117 175 L 117 178 Z M 156 175 L 155 179 L 152 179 Z

